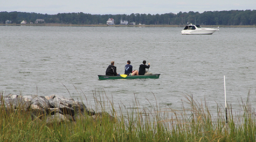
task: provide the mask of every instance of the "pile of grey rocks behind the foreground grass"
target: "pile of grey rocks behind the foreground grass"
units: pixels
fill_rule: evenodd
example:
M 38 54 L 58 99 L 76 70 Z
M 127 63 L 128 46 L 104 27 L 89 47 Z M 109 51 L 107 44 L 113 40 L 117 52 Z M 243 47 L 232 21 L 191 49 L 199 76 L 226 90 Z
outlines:
M 77 121 L 77 119 L 88 115 L 93 119 L 105 116 L 114 118 L 107 113 L 95 113 L 84 103 L 65 98 L 60 95 L 38 96 L 38 95 L 1 95 L 1 108 L 8 110 L 22 110 L 31 114 L 32 120 L 46 119 L 46 123 Z

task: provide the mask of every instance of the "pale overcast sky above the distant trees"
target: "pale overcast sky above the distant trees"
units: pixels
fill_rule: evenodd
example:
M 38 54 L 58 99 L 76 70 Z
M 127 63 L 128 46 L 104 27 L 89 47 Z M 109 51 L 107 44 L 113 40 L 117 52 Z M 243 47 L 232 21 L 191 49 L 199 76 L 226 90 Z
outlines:
M 58 14 L 164 14 L 178 12 L 255 10 L 256 0 L 0 0 L 0 11 Z

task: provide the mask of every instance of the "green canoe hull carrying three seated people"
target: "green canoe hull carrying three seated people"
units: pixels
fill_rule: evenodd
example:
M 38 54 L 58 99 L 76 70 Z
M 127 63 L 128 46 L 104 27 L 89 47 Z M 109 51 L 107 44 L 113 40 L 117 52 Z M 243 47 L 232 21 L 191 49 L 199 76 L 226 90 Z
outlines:
M 160 74 L 152 74 L 148 76 L 127 76 L 127 77 L 121 77 L 121 76 L 103 76 L 98 75 L 99 80 L 107 80 L 107 79 L 137 79 L 137 78 L 154 78 L 157 79 L 160 77 Z

